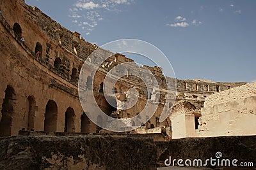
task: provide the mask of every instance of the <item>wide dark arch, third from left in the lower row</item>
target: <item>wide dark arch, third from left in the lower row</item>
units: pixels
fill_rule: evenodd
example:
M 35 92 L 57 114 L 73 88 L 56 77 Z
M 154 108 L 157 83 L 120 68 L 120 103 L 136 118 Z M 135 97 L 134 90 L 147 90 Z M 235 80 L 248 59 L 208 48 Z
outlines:
M 49 100 L 45 108 L 44 131 L 56 132 L 58 108 L 55 101 Z

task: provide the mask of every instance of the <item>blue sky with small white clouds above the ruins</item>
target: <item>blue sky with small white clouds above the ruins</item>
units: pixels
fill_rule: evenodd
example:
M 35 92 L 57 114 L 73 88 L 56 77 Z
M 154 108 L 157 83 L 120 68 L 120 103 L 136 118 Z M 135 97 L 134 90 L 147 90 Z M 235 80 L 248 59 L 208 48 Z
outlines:
M 124 38 L 147 41 L 168 57 L 179 79 L 256 81 L 254 0 L 26 3 L 99 46 Z

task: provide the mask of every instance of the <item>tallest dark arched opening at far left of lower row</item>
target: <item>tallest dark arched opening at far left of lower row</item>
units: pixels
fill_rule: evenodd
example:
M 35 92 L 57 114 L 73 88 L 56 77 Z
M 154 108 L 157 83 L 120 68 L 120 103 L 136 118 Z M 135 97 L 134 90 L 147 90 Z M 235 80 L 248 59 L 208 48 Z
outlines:
M 10 136 L 12 129 L 12 117 L 14 113 L 15 92 L 9 85 L 4 92 L 5 96 L 1 110 L 0 136 Z

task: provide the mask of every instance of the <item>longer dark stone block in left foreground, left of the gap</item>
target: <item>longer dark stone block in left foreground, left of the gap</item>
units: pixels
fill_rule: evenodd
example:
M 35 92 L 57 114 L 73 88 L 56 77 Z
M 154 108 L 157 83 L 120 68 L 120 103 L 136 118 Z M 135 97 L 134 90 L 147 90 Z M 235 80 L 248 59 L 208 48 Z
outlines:
M 0 138 L 0 169 L 156 169 L 148 138 L 103 136 Z

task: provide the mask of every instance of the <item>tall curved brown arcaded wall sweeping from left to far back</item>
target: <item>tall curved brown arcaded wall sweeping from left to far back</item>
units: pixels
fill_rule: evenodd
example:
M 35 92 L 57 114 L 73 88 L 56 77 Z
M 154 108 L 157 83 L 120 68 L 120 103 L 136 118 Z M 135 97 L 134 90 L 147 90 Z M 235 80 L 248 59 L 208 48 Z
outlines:
M 77 81 L 84 59 L 99 47 L 85 41 L 79 33 L 68 31 L 38 8 L 28 6 L 22 0 L 1 0 L 0 8 L 2 11 L 0 57 L 1 67 L 4 68 L 0 71 L 2 85 L 0 116 L 1 127 L 10 127 L 4 135 L 17 134 L 20 129 L 60 132 L 98 131 L 99 129 L 83 115 L 84 111 L 93 113 L 94 110 L 86 108 L 83 111 L 81 108 Z M 21 41 L 20 38 L 24 38 L 25 41 Z M 37 52 L 40 52 L 38 56 Z M 49 62 L 51 58 L 52 64 Z M 108 115 L 111 115 L 114 109 L 109 106 L 104 94 L 100 92 L 100 84 L 108 71 L 122 62 L 133 62 L 133 60 L 122 54 L 113 53 L 113 56 L 104 61 L 97 71 L 95 79 L 91 82 L 86 81 L 84 86 L 85 89 L 93 89 L 97 104 Z M 154 103 L 159 99 L 159 107 L 150 119 L 150 124 L 154 127 L 159 125 L 170 127 L 170 120 L 159 124 L 157 119 L 166 101 L 166 81 L 176 81 L 175 78 L 165 80 L 161 67 L 138 66 L 137 68 L 136 71 L 140 73 L 138 77 L 124 76 L 116 83 L 114 89 L 116 96 L 124 96 L 131 87 L 136 87 L 140 96 L 138 104 L 130 110 L 119 109 L 119 117 L 133 117 L 143 109 L 143 104 L 147 101 Z M 151 76 L 156 76 L 159 91 L 154 91 L 153 85 L 147 89 L 145 83 L 141 83 L 140 76 L 145 76 L 145 68 L 152 71 L 147 77 L 148 82 Z M 90 69 L 88 68 L 87 71 L 90 72 Z M 131 72 L 129 69 L 120 71 Z M 202 107 L 204 98 L 210 94 L 242 84 L 244 83 L 177 80 L 177 101 L 186 99 L 195 106 Z M 90 102 L 88 100 L 88 103 Z M 172 107 L 173 104 L 174 102 L 169 106 Z M 45 129 L 45 121 L 48 120 L 49 129 Z M 81 125 L 85 127 L 81 128 Z

